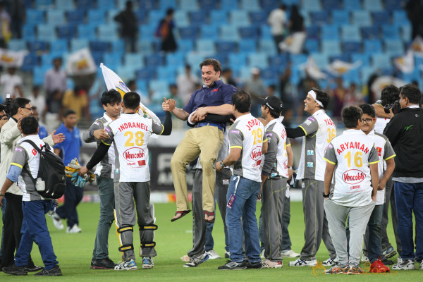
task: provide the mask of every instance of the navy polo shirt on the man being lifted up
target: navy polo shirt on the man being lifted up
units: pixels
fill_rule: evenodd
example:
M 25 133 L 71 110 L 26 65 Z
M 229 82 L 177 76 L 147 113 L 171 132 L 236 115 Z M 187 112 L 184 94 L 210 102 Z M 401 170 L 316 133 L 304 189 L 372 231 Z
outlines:
M 191 114 L 198 108 L 204 106 L 221 106 L 223 104 L 232 104 L 232 94 L 236 92 L 233 85 L 223 83 L 223 80 L 216 80 L 212 87 L 203 85 L 199 90 L 192 92 L 190 101 L 183 110 Z

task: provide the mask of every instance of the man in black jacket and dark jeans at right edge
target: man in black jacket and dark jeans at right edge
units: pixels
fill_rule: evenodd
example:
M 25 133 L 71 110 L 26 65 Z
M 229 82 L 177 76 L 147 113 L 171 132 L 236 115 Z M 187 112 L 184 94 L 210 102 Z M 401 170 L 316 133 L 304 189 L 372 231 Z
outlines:
M 396 152 L 393 181 L 398 213 L 398 235 L 401 259 L 392 269 L 415 269 L 415 260 L 423 269 L 423 109 L 419 107 L 420 91 L 414 85 L 400 90 L 401 110 L 386 125 L 384 135 Z M 414 252 L 412 213 L 416 221 Z

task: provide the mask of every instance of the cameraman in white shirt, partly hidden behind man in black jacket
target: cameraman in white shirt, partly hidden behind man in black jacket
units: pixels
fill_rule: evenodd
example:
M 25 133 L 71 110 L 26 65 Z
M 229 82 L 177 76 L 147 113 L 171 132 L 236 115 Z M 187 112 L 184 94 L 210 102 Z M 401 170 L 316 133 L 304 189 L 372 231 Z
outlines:
M 374 131 L 376 133 L 384 133 L 386 124 L 391 121 L 391 118 L 394 114 L 398 114 L 400 110 L 399 101 L 400 99 L 400 90 L 394 85 L 388 85 L 384 87 L 381 92 L 381 99 L 376 101 L 374 106 L 374 111 L 376 112 L 376 123 L 374 124 Z M 398 109 L 399 108 L 399 109 Z M 384 164 L 384 169 L 386 169 L 386 164 Z M 391 203 L 391 220 L 393 226 L 393 233 L 395 234 L 397 250 L 401 252 L 401 241 L 398 235 L 398 216 L 396 212 L 395 205 L 395 195 L 393 192 L 393 181 L 392 176 L 386 182 L 385 189 L 385 203 L 384 203 L 384 216 L 382 218 L 382 251 L 386 258 L 393 257 L 396 255 L 396 250 L 393 248 L 389 242 L 388 233 L 386 232 L 386 227 L 388 226 L 388 211 L 389 204 Z

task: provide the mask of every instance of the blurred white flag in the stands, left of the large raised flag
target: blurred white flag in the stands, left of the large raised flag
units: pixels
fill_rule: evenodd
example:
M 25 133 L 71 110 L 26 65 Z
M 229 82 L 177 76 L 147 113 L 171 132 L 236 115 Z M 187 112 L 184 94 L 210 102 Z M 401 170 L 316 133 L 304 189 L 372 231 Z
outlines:
M 96 67 L 90 49 L 80 49 L 68 56 L 66 62 L 66 73 L 68 75 L 90 75 L 95 71 Z

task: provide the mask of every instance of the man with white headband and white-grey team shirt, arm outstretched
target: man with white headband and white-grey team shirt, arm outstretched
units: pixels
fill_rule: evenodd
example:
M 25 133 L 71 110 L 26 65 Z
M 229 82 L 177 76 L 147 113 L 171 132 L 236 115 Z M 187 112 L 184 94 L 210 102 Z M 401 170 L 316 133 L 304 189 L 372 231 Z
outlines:
M 300 164 L 297 179 L 302 180 L 302 206 L 305 220 L 305 244 L 300 257 L 290 262 L 290 266 L 314 266 L 317 263 L 316 253 L 319 250 L 321 239 L 329 250 L 330 258 L 324 265 L 334 264 L 336 258 L 329 235 L 328 222 L 324 214 L 324 152 L 329 142 L 336 137 L 335 124 L 326 115 L 329 104 L 329 94 L 312 88 L 304 100 L 304 110 L 309 116 L 298 128 L 286 128 L 289 138 L 302 137 Z

